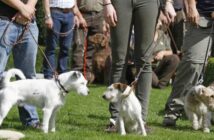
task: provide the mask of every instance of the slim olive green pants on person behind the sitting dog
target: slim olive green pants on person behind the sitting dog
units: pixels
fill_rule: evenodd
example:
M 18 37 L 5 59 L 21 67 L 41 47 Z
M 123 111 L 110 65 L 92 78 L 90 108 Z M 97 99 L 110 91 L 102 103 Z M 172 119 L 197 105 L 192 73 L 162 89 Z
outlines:
M 135 31 L 135 65 L 139 70 L 145 64 L 137 81 L 136 95 L 142 105 L 142 117 L 146 119 L 149 94 L 151 90 L 151 62 L 145 59 L 147 49 L 151 47 L 155 26 L 159 15 L 158 0 L 112 0 L 118 22 L 111 28 L 112 67 L 110 82 L 125 83 L 127 51 L 132 27 Z M 111 84 L 110 83 L 110 84 Z M 118 103 L 110 104 L 111 118 L 118 117 Z

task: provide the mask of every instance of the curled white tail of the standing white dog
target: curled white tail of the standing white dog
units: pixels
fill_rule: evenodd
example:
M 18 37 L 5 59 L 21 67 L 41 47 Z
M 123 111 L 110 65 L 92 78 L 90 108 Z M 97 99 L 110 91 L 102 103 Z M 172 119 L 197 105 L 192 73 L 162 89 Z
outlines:
M 1 83 L 3 84 L 3 86 L 6 86 L 10 82 L 10 79 L 15 76 L 18 76 L 22 80 L 26 79 L 21 70 L 13 68 L 4 73 L 4 77 Z

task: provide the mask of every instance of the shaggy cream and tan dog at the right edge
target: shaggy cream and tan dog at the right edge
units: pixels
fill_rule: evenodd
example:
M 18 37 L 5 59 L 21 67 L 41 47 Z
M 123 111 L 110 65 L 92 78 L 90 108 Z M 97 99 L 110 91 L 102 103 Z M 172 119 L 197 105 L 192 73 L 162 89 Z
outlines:
M 185 96 L 184 109 L 192 121 L 194 130 L 200 128 L 205 133 L 210 132 L 211 112 L 214 110 L 214 89 L 212 86 L 198 85 Z

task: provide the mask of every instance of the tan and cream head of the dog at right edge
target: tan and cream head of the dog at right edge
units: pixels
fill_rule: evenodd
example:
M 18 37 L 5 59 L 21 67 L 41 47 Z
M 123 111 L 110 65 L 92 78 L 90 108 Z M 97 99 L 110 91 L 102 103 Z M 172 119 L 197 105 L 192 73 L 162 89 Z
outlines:
M 211 87 L 198 85 L 194 87 L 196 97 L 202 101 L 211 111 L 214 111 L 214 90 Z

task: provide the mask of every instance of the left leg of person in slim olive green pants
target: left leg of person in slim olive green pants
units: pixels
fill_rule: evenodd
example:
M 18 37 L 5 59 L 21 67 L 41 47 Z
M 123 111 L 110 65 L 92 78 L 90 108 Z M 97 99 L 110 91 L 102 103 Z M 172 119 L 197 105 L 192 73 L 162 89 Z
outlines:
M 129 35 L 132 24 L 132 0 L 113 0 L 118 21 L 116 27 L 111 27 L 112 67 L 110 84 L 125 83 L 126 55 L 129 44 Z M 117 103 L 110 103 L 111 119 L 118 119 Z

